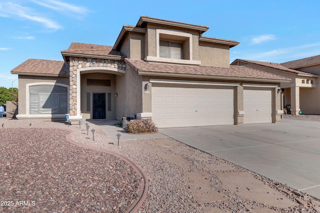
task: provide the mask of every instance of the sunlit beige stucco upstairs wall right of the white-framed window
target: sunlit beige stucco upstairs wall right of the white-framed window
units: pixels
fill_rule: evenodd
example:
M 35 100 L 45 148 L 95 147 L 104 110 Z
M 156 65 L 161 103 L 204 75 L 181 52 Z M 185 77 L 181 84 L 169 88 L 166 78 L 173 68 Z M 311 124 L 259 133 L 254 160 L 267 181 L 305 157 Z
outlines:
M 227 45 L 199 42 L 199 60 L 202 65 L 229 66 L 229 47 Z

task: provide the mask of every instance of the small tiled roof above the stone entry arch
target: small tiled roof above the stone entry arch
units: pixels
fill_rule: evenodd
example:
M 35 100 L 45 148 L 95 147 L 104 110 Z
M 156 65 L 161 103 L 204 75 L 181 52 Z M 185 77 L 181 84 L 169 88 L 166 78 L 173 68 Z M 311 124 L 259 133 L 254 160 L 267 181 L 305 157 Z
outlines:
M 80 53 L 101 56 L 123 56 L 121 52 L 112 50 L 112 46 L 76 42 L 72 42 L 68 49 L 61 50 L 61 53 Z

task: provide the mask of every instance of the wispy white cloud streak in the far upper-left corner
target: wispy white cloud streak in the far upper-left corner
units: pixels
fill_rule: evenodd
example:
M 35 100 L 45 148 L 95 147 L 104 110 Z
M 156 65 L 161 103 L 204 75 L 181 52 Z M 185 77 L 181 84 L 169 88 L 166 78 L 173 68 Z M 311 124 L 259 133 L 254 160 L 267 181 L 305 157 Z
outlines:
M 47 28 L 59 29 L 61 26 L 54 20 L 41 16 L 32 8 L 24 7 L 16 3 L 5 2 L 0 6 L 0 15 L 4 17 L 21 18 L 42 23 Z

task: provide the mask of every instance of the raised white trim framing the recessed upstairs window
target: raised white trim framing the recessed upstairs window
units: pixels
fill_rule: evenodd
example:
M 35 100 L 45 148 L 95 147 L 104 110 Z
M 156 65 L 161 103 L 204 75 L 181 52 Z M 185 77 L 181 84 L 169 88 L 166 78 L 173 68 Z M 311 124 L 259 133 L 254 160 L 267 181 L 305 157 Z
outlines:
M 162 58 L 160 57 L 160 34 L 167 35 L 176 35 L 181 37 L 187 37 L 189 39 L 189 60 L 185 59 L 173 59 L 173 58 Z M 167 62 L 167 63 L 183 63 L 183 64 L 191 64 L 191 65 L 200 65 L 201 61 L 193 60 L 192 55 L 192 34 L 186 32 L 180 32 L 175 30 L 167 30 L 167 29 L 155 29 L 155 40 L 156 40 L 156 56 L 146 56 L 145 60 L 154 61 L 154 62 Z

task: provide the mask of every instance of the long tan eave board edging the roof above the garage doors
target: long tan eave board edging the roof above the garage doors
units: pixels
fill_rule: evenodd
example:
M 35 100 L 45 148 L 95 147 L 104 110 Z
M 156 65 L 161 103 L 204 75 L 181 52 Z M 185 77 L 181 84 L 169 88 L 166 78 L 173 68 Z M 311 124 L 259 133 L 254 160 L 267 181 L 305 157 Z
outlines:
M 199 74 L 180 74 L 168 72 L 138 71 L 139 75 L 151 76 L 168 76 L 168 77 L 187 77 L 187 78 L 205 78 L 221 80 L 241 80 L 241 81 L 260 81 L 260 82 L 290 82 L 290 79 L 268 79 L 268 78 L 251 78 L 251 77 L 234 77 L 234 76 L 216 76 L 216 75 L 199 75 Z

